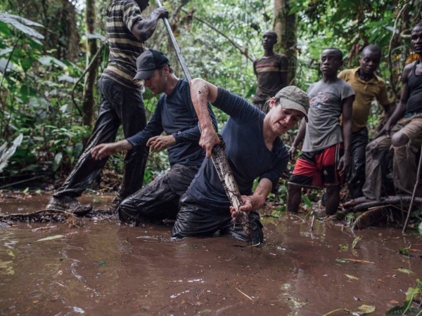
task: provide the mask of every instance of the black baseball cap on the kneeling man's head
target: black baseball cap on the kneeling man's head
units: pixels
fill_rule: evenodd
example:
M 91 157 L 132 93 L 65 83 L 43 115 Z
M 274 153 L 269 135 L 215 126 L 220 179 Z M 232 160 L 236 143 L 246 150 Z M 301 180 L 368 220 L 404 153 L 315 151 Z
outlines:
M 136 75 L 134 80 L 148 79 L 153 77 L 154 71 L 164 65 L 169 65 L 170 62 L 166 55 L 154 49 L 144 51 L 136 58 Z

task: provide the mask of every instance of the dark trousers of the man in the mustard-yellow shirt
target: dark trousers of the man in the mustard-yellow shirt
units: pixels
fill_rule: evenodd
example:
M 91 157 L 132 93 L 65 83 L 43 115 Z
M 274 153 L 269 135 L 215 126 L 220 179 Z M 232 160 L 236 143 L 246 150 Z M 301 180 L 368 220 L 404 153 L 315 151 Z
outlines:
M 352 152 L 350 169 L 347 173 L 347 187 L 352 199 L 362 197 L 362 187 L 365 183 L 365 150 L 368 145 L 368 129 L 364 127 L 352 133 Z

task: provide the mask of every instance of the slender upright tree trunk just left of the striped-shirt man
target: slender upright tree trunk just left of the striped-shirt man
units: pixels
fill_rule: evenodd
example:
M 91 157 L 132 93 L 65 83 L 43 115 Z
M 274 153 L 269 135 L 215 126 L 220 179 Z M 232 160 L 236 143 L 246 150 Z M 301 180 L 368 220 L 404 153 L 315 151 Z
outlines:
M 87 67 L 91 62 L 91 58 L 98 50 L 96 39 L 89 38 L 89 34 L 95 32 L 95 0 L 87 0 L 85 11 L 85 23 L 87 25 Z M 94 87 L 96 84 L 98 73 L 99 58 L 94 60 L 93 65 L 89 68 L 85 75 L 84 96 L 82 97 L 82 112 L 84 114 L 84 125 L 88 125 L 91 129 L 94 126 Z

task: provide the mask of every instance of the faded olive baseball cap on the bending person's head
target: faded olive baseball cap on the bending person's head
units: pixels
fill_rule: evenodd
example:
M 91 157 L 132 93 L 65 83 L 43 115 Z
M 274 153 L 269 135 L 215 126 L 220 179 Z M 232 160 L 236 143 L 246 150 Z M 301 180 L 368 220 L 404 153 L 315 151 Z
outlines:
M 305 121 L 307 119 L 307 112 L 309 110 L 309 96 L 297 86 L 286 86 L 276 93 L 274 98 L 279 98 L 281 106 L 285 109 L 298 110 L 305 114 Z

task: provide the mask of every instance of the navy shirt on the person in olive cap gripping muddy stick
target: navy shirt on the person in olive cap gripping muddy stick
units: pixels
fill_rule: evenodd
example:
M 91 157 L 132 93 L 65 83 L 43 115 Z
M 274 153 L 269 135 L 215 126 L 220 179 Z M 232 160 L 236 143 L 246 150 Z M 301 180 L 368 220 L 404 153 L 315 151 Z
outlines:
M 275 187 L 286 169 L 289 157 L 279 137 L 274 141 L 272 150 L 268 150 L 263 134 L 264 112 L 222 88 L 218 88 L 214 105 L 230 115 L 222 129 L 222 136 L 226 143 L 227 159 L 241 195 L 252 194 L 255 178 L 267 178 Z M 212 159 L 204 160 L 186 194 L 207 207 L 230 206 Z

